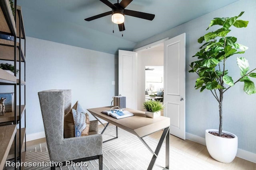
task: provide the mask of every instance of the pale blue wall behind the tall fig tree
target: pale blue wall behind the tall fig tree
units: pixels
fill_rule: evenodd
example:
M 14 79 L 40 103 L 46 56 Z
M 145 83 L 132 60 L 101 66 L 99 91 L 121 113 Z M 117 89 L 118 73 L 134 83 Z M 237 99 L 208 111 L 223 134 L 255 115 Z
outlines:
M 186 132 L 204 137 L 205 129 L 218 129 L 218 103 L 208 91 L 200 93 L 194 89 L 196 74 L 188 73 L 189 65 L 195 59 L 192 56 L 201 46 L 197 39 L 207 33 L 210 20 L 215 17 L 233 17 L 245 11 L 242 20 L 248 20 L 246 28 L 232 27 L 230 35 L 238 38 L 238 43 L 246 45 L 249 49 L 245 54 L 234 56 L 227 64 L 233 80 L 237 80 L 240 70 L 236 65 L 236 57 L 243 56 L 249 60 L 251 68 L 256 67 L 256 1 L 240 0 L 229 6 L 206 14 L 200 18 L 189 21 L 160 33 L 138 43 L 134 49 L 158 41 L 166 37 L 172 38 L 186 33 Z M 175 16 L 178 19 L 178 16 Z M 216 27 L 214 27 L 216 29 Z M 214 30 L 212 29 L 212 30 Z M 255 80 L 255 79 L 254 79 Z M 256 81 L 254 81 L 256 82 Z M 256 94 L 248 96 L 243 92 L 243 84 L 236 84 L 224 94 L 223 102 L 223 130 L 238 136 L 238 148 L 256 153 Z

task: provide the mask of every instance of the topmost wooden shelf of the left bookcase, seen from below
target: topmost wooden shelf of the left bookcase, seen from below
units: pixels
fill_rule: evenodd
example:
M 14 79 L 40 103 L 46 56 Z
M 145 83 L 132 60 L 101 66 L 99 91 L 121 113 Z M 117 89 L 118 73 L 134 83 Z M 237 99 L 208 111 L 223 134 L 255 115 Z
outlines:
M 0 0 L 0 31 L 16 36 L 16 26 L 9 0 Z

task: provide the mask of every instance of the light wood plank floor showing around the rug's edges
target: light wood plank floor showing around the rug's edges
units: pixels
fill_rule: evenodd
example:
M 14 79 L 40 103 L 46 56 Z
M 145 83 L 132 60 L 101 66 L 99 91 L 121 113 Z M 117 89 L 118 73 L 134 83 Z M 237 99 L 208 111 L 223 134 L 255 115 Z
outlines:
M 103 127 L 99 125 L 99 127 Z M 150 137 L 154 139 L 160 139 L 162 135 L 162 131 L 158 131 L 150 135 Z M 32 145 L 37 145 L 40 143 L 46 142 L 45 138 L 37 139 L 34 141 L 28 141 L 26 144 L 27 147 Z M 170 135 L 170 146 L 175 147 L 176 149 L 182 150 L 190 155 L 196 156 L 198 159 L 213 164 L 214 166 L 218 166 L 223 170 L 256 170 L 256 164 L 250 162 L 248 160 L 244 160 L 242 158 L 236 157 L 233 162 L 229 164 L 224 164 L 214 160 L 210 154 L 208 153 L 206 146 L 201 145 L 199 143 L 190 141 L 190 140 L 182 140 L 178 137 Z

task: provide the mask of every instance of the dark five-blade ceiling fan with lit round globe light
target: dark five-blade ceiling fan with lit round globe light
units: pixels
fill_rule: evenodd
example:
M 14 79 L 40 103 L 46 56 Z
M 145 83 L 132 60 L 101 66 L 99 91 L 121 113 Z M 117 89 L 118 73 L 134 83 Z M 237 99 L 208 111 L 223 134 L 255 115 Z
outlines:
M 126 6 L 128 6 L 132 2 L 132 0 L 122 0 L 120 3 L 119 3 L 119 0 L 117 0 L 116 4 L 112 4 L 108 0 L 100 0 L 100 1 L 103 2 L 104 4 L 106 4 L 107 6 L 109 6 L 110 8 L 112 8 L 112 11 L 105 12 L 105 13 L 102 13 L 102 14 L 99 14 L 96 16 L 92 16 L 92 17 L 86 18 L 84 20 L 92 21 L 92 20 L 95 20 L 95 19 L 98 19 L 98 18 L 101 18 L 104 16 L 108 16 L 111 14 L 112 22 L 118 24 L 119 31 L 124 31 L 125 30 L 124 15 L 142 18 L 142 19 L 150 20 L 150 21 L 152 21 L 155 18 L 154 14 L 148 14 L 148 13 L 144 13 L 144 12 L 138 12 L 138 11 L 124 9 L 124 8 L 126 8 Z M 113 30 L 113 33 L 114 33 L 114 30 Z

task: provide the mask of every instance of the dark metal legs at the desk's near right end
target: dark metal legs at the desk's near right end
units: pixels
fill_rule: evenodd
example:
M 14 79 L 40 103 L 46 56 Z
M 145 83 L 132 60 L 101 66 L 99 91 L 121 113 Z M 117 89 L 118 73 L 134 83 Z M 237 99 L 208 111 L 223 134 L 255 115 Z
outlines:
M 154 166 L 154 164 L 155 164 L 155 162 L 156 162 L 156 158 L 157 158 L 157 156 L 158 156 L 158 153 L 159 153 L 159 151 L 160 151 L 160 149 L 161 149 L 161 147 L 162 147 L 162 144 L 163 144 L 163 142 L 164 142 L 164 138 L 166 138 L 167 136 L 169 136 L 169 127 L 166 127 L 165 129 L 164 129 L 164 131 L 163 131 L 163 133 L 162 133 L 162 136 L 161 136 L 161 138 L 160 138 L 160 140 L 159 140 L 159 142 L 158 142 L 158 145 L 157 145 L 157 147 L 156 147 L 156 150 L 155 150 L 155 152 L 154 152 L 154 154 L 153 154 L 153 156 L 152 156 L 152 159 L 151 159 L 151 161 L 150 161 L 150 164 L 149 164 L 149 166 L 148 166 L 148 170 L 152 170 L 152 168 L 153 168 L 153 166 Z M 167 146 L 167 144 L 166 144 L 166 153 L 169 153 L 169 138 L 168 138 L 168 146 Z M 168 164 L 169 165 L 169 154 L 168 155 L 166 155 L 166 157 L 168 157 L 168 162 L 166 162 L 166 165 Z M 166 158 L 166 160 L 167 160 L 167 158 Z M 168 168 L 167 168 L 168 169 Z

